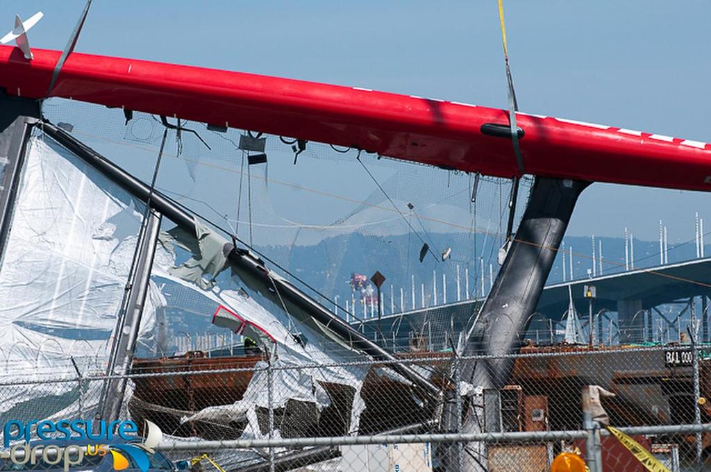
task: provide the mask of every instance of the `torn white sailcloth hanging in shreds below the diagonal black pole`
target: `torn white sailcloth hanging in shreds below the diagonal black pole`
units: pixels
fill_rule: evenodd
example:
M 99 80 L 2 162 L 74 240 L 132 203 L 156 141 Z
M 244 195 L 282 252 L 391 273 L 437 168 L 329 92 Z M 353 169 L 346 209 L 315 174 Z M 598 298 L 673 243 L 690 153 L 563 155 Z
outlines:
M 287 401 L 309 402 L 320 410 L 331 404 L 322 383 L 348 385 L 354 390 L 350 427 L 358 429 L 360 413 L 365 404 L 360 398 L 360 387 L 368 371 L 367 366 L 350 367 L 337 364 L 353 360 L 353 350 L 314 331 L 312 320 L 292 316 L 287 307 L 274 304 L 253 287 L 245 284 L 237 274 L 225 267 L 223 248 L 229 241 L 210 232 L 196 221 L 196 234 L 183 230 L 161 233 L 154 275 L 164 277 L 213 301 L 212 321 L 215 326 L 258 340 L 269 353 L 272 363 L 272 407 L 284 407 Z M 190 252 L 186 262 L 180 263 L 179 250 Z M 183 257 L 184 258 L 184 257 Z M 277 276 L 274 276 L 277 277 Z M 226 288 L 229 287 L 229 288 Z M 288 327 L 287 327 L 288 326 Z M 263 437 L 257 423 L 256 408 L 267 408 L 269 395 L 267 363 L 257 363 L 252 380 L 242 399 L 234 404 L 207 407 L 184 421 L 223 422 L 247 421 L 243 437 Z

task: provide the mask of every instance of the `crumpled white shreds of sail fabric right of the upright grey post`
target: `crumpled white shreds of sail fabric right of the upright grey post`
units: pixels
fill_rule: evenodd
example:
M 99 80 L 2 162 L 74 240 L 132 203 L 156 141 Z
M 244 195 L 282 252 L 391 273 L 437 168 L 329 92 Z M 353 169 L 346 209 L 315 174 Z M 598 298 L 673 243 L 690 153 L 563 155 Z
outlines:
M 163 244 L 156 250 L 152 274 L 176 281 L 213 300 L 215 306 L 225 306 L 230 311 L 237 313 L 240 318 L 246 321 L 240 326 L 247 336 L 261 339 L 262 344 L 268 350 L 276 348 L 272 363 L 272 406 L 274 408 L 284 407 L 289 399 L 314 402 L 319 409 L 327 407 L 331 400 L 319 381 L 336 382 L 355 388 L 350 429 L 357 431 L 360 414 L 365 408 L 363 399 L 360 397 L 360 387 L 363 385 L 367 368 L 363 366 L 351 366 L 350 368 L 334 366 L 334 364 L 346 361 L 345 349 L 331 348 L 326 352 L 319 343 L 310 342 L 302 345 L 296 341 L 293 333 L 274 313 L 257 303 L 245 291 L 220 289 L 219 284 L 208 288 L 208 279 L 214 277 L 221 269 L 214 264 L 215 259 L 218 258 L 215 253 L 228 241 L 214 233 L 208 236 L 209 230 L 199 222 L 196 222 L 196 228 L 197 234 L 191 236 L 196 238 L 195 244 L 189 242 L 186 244 L 186 235 L 181 235 L 181 240 L 178 241 L 169 233 L 161 234 L 160 239 Z M 173 232 L 173 234 L 177 233 Z M 209 238 L 210 244 L 198 245 L 198 238 L 201 240 Z M 191 247 L 191 250 L 195 251 L 187 264 L 176 264 L 176 255 L 171 247 L 173 244 L 183 249 Z M 213 250 L 208 248 L 213 248 Z M 203 260 L 210 263 L 202 263 Z M 198 270 L 198 267 L 203 267 L 203 270 Z M 240 280 L 235 276 L 232 277 L 232 281 L 237 285 L 240 283 Z M 282 313 L 282 316 L 284 314 Z M 292 319 L 290 323 L 299 324 L 299 321 Z M 305 328 L 299 326 L 299 329 L 304 330 Z M 341 353 L 339 350 L 344 352 Z M 352 358 L 353 354 L 350 351 L 348 353 Z M 314 366 L 314 368 L 309 368 L 309 366 Z M 265 368 L 266 363 L 259 363 L 255 366 L 255 373 L 252 375 L 250 385 L 247 386 L 240 401 L 234 404 L 207 407 L 184 420 L 200 419 L 228 423 L 247 419 L 248 426 L 242 437 L 263 437 L 264 435 L 257 424 L 255 408 L 268 407 L 269 395 L 267 395 L 267 371 L 264 370 Z

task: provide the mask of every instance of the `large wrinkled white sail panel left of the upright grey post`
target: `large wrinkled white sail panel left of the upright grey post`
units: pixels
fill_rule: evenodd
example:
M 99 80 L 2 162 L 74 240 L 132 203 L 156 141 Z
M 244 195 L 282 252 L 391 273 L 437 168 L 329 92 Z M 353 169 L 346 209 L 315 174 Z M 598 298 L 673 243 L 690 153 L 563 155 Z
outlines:
M 107 358 L 141 220 L 136 205 L 55 141 L 30 139 L 0 266 L 4 380 L 75 377 L 70 356 L 94 369 Z M 152 286 L 139 343 L 151 342 L 161 304 Z M 5 394 L 0 412 L 73 388 L 16 389 L 14 398 Z

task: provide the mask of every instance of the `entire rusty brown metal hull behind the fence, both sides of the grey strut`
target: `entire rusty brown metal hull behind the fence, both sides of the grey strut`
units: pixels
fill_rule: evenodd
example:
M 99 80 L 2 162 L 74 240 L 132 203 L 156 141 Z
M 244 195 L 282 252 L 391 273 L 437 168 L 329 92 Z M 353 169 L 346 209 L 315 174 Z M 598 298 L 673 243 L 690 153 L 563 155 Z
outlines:
M 545 409 L 545 426 L 528 421 L 524 413 L 524 429 L 578 429 L 582 417 L 579 392 L 583 385 L 600 385 L 616 394 L 605 399 L 604 406 L 613 424 L 643 426 L 646 424 L 677 424 L 693 422 L 692 371 L 688 366 L 665 366 L 663 350 L 623 348 L 593 348 L 559 345 L 545 348 L 528 346 L 522 354 L 543 354 L 516 358 L 511 383 L 523 389 L 528 409 Z M 562 355 L 555 355 L 560 353 Z M 551 355 L 554 354 L 554 355 Z M 442 389 L 453 388 L 447 382 L 451 357 L 445 353 L 410 353 L 403 357 L 428 358 L 423 364 L 432 368 L 431 381 Z M 440 358 L 432 363 L 432 358 Z M 261 360 L 253 357 L 205 358 L 202 353 L 161 359 L 136 359 L 134 373 L 191 372 L 230 369 L 230 372 L 201 375 L 171 375 L 137 377 L 129 411 L 134 419 L 151 419 L 164 431 L 179 436 L 207 439 L 237 438 L 246 419 L 233 424 L 183 424 L 179 419 L 205 407 L 232 404 L 244 394 L 252 379 L 252 369 Z M 708 361 L 701 363 L 701 393 L 711 394 L 711 369 Z M 391 377 L 379 375 L 378 365 L 371 368 L 363 382 L 360 395 L 365 411 L 360 420 L 360 433 L 371 434 L 432 419 L 432 407 L 418 404 L 410 390 Z M 274 412 L 275 422 L 284 437 L 332 436 L 346 433 L 355 388 L 349 385 L 322 382 L 331 404 L 321 412 L 314 404 L 288 402 Z M 535 402 L 533 401 L 535 400 Z M 525 409 L 525 408 L 524 408 Z M 525 411 L 528 412 L 528 409 Z M 265 409 L 257 409 L 260 427 L 266 429 Z M 702 421 L 711 421 L 711 409 L 702 410 Z M 141 421 L 142 422 L 142 421 Z M 711 436 L 705 437 L 711 445 Z

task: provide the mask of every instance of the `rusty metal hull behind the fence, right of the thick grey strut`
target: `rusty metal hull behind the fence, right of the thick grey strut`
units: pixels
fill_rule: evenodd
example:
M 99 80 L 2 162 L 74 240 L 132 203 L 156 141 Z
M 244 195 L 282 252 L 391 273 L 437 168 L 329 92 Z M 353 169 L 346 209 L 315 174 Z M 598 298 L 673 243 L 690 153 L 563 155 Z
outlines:
M 600 385 L 616 394 L 605 400 L 614 424 L 693 422 L 691 368 L 665 366 L 663 350 L 556 346 L 527 347 L 521 352 L 564 354 L 517 358 L 513 369 L 512 382 L 527 395 L 549 398 L 552 429 L 579 427 L 570 412 L 579 409 L 583 385 Z

